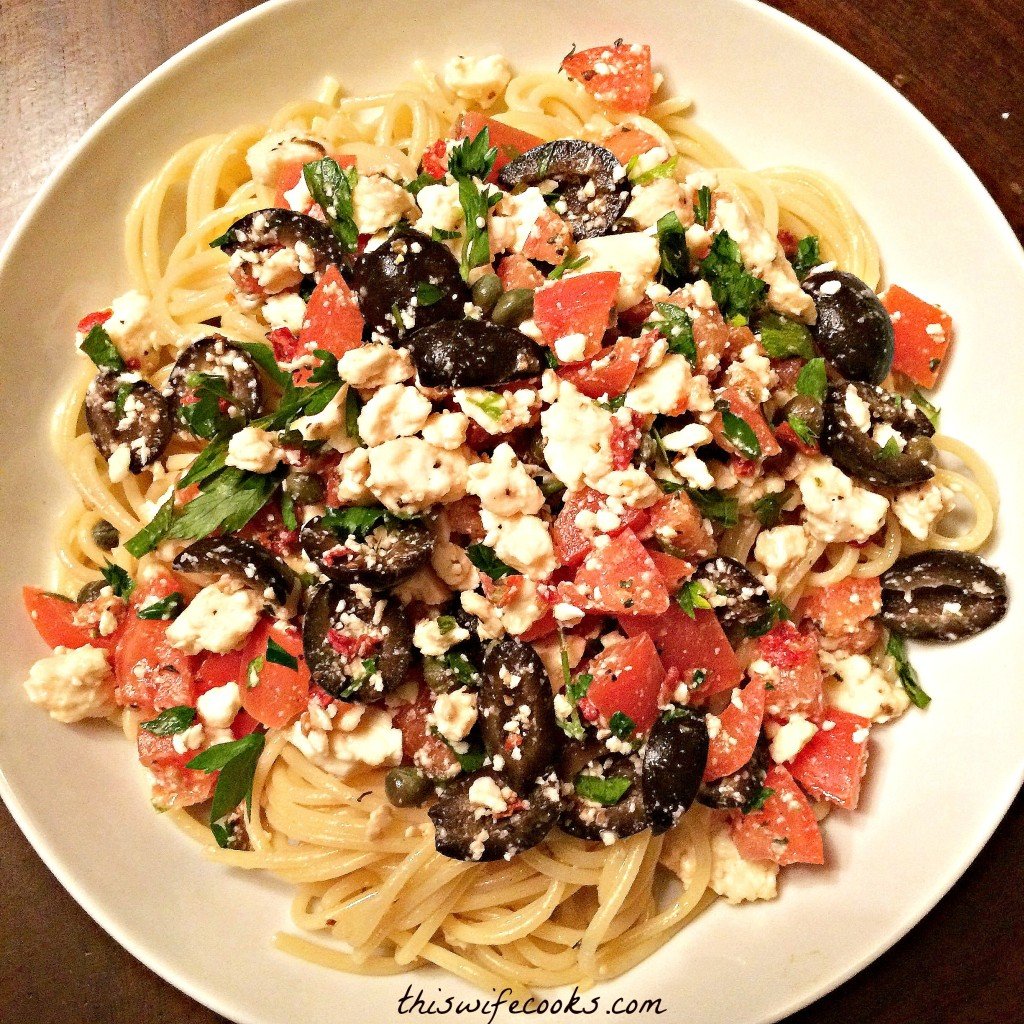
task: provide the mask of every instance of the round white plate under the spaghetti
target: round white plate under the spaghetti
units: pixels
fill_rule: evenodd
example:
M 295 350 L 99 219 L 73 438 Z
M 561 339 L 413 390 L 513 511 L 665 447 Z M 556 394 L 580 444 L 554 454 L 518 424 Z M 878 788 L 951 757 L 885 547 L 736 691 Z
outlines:
M 1020 247 L 936 130 L 798 23 L 749 0 L 688 0 L 672 16 L 660 0 L 293 0 L 188 47 L 86 135 L 0 259 L 0 522 L 10 609 L 0 626 L 0 793 L 103 928 L 236 1021 L 318 1024 L 358 1006 L 374 1024 L 396 1019 L 410 981 L 445 993 L 465 986 L 439 974 L 346 976 L 275 952 L 269 942 L 288 925 L 287 889 L 206 863 L 150 810 L 133 751 L 114 730 L 57 725 L 24 699 L 20 681 L 42 651 L 17 589 L 47 579 L 69 493 L 46 437 L 73 361 L 73 326 L 127 287 L 124 211 L 182 142 L 260 120 L 326 72 L 350 89 L 386 88 L 414 57 L 439 66 L 455 52 L 496 49 L 520 69 L 554 68 L 572 42 L 621 35 L 650 41 L 670 85 L 696 96 L 700 123 L 750 166 L 803 163 L 834 176 L 881 242 L 890 279 L 949 308 L 957 341 L 941 393 L 945 427 L 989 457 L 1005 522 L 1022 507 L 1024 339 L 1007 318 L 1024 294 Z M 1005 528 L 991 554 L 1012 580 L 1024 579 L 1020 530 Z M 786 870 L 774 903 L 716 906 L 602 995 L 660 997 L 669 1020 L 688 1024 L 761 1024 L 834 988 L 903 935 L 966 869 L 1021 783 L 1022 628 L 1019 601 L 977 640 L 915 649 L 934 702 L 880 730 L 862 810 L 835 814 L 825 829 L 829 866 Z

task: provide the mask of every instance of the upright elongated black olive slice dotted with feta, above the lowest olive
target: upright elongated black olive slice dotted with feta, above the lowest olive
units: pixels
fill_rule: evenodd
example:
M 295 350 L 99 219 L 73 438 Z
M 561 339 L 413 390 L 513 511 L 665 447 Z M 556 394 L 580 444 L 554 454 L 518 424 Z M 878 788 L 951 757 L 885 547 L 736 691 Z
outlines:
M 504 759 L 502 774 L 509 785 L 528 788 L 558 761 L 561 750 L 547 670 L 528 643 L 506 635 L 487 651 L 481 671 L 477 709 L 483 745 L 492 757 Z

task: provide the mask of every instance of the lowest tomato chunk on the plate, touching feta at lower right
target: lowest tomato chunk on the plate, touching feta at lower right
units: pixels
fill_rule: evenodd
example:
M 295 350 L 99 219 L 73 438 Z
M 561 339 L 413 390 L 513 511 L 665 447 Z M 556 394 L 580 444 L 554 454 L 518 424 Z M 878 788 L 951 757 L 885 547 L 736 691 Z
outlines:
M 814 811 L 793 776 L 774 765 L 765 776 L 771 796 L 760 811 L 734 814 L 732 841 L 746 860 L 823 864 L 824 848 Z

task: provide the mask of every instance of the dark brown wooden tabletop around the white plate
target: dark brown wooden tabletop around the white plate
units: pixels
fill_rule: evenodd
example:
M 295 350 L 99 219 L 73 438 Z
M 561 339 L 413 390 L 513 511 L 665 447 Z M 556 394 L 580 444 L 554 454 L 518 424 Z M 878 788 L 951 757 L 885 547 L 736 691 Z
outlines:
M 246 0 L 0 0 L 0 240 L 69 146 L 119 95 L 191 40 L 253 6 Z M 774 6 L 893 82 L 967 158 L 1024 236 L 1021 0 L 775 0 Z M 965 227 L 950 215 L 950 229 Z M 1008 302 L 1019 303 L 1020 297 Z M 0 1021 L 222 1021 L 93 924 L 2 805 L 0 850 Z M 1022 894 L 1019 797 L 974 865 L 921 925 L 787 1024 L 1024 1022 Z

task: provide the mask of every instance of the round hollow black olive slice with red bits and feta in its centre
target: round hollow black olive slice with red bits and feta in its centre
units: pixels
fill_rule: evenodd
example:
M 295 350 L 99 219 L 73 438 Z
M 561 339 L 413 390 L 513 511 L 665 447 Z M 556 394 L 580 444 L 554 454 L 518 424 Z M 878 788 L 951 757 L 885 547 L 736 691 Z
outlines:
M 313 682 L 332 696 L 367 702 L 400 686 L 413 664 L 413 631 L 395 598 L 338 583 L 317 587 L 302 623 Z

